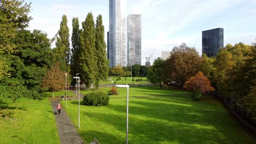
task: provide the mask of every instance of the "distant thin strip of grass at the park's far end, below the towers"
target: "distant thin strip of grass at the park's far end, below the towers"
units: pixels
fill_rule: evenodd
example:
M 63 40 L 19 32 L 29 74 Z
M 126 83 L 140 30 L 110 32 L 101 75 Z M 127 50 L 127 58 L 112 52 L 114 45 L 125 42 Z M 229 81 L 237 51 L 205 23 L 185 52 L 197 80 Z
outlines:
M 142 79 L 142 81 L 136 81 L 137 79 Z M 113 81 L 113 83 L 111 82 Z M 147 77 L 134 77 L 134 81 L 132 81 L 132 77 L 121 77 L 121 80 L 117 80 L 117 76 L 112 76 L 109 78 L 107 81 L 100 81 L 100 85 L 105 85 L 105 84 L 114 84 L 114 82 L 118 85 L 122 84 L 149 84 L 149 81 L 147 80 Z

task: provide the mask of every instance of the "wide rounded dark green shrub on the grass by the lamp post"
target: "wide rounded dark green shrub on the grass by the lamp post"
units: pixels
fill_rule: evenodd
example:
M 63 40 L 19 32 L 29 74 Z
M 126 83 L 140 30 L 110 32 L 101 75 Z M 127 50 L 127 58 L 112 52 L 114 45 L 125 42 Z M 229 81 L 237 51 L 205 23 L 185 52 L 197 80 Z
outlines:
M 109 97 L 107 94 L 97 92 L 89 93 L 84 96 L 83 104 L 92 106 L 108 105 Z

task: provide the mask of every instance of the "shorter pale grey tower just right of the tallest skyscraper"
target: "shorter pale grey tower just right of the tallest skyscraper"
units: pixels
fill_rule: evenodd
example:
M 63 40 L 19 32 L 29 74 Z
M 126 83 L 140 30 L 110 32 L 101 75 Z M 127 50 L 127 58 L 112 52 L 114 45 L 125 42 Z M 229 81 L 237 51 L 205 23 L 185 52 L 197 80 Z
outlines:
M 127 65 L 141 64 L 141 15 L 127 16 Z

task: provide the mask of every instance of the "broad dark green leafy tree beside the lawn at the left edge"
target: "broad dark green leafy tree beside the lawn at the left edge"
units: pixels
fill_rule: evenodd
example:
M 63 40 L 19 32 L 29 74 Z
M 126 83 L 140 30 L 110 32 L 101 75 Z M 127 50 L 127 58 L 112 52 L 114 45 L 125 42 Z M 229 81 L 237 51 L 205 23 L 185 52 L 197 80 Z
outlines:
M 52 57 L 49 39 L 38 30 L 22 29 L 14 43 L 18 48 L 15 53 L 2 56 L 9 75 L 0 80 L 0 97 L 42 99 L 42 81 Z

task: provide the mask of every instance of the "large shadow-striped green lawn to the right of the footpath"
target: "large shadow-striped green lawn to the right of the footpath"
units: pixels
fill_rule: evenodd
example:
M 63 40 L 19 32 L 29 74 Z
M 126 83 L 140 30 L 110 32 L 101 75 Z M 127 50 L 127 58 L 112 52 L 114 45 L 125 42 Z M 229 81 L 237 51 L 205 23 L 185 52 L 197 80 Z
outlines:
M 190 93 L 156 87 L 131 87 L 130 93 L 158 96 L 129 99 L 129 143 L 255 142 L 228 110 L 210 96 L 193 101 Z M 68 105 L 66 111 L 78 125 L 78 101 L 68 101 Z M 107 106 L 80 105 L 78 131 L 86 143 L 94 137 L 100 143 L 125 143 L 126 99 L 110 96 Z

